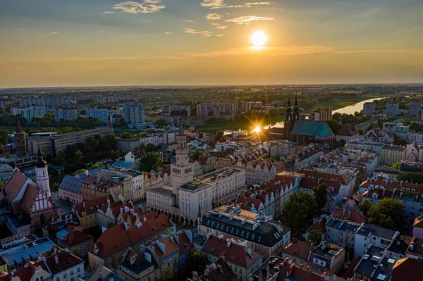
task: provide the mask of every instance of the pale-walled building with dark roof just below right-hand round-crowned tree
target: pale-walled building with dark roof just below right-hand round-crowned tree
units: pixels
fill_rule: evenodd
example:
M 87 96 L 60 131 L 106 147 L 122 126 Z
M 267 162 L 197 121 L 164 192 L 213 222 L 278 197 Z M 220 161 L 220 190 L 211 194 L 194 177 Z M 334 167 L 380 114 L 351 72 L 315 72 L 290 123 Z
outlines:
M 400 232 L 396 230 L 363 223 L 355 232 L 354 257 L 363 256 L 372 245 L 387 249 L 398 235 Z

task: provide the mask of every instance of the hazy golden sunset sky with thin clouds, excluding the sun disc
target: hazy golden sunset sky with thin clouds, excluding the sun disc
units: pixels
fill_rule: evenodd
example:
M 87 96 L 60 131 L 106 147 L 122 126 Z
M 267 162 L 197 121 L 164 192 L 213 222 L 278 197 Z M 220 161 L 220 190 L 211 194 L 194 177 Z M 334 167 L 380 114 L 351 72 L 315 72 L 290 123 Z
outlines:
M 0 0 L 0 87 L 423 82 L 422 0 Z M 268 41 L 251 47 L 261 30 Z

